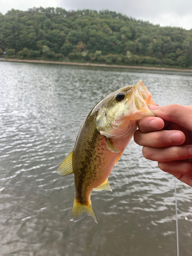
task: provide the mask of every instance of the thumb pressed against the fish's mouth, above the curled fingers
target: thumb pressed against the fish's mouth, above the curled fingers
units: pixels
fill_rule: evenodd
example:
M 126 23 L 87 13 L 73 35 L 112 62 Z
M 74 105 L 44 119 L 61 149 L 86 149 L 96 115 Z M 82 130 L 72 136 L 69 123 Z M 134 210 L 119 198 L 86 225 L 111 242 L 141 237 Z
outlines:
M 172 104 L 167 106 L 151 105 L 149 108 L 163 120 L 177 123 L 181 127 L 192 131 L 192 106 Z

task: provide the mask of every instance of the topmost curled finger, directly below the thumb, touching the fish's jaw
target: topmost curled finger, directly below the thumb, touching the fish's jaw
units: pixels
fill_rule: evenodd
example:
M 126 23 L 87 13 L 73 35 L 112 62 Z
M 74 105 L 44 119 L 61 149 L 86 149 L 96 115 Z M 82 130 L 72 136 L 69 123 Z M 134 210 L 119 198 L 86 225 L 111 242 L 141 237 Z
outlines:
M 142 133 L 162 130 L 164 121 L 160 117 L 145 117 L 138 121 L 138 128 Z

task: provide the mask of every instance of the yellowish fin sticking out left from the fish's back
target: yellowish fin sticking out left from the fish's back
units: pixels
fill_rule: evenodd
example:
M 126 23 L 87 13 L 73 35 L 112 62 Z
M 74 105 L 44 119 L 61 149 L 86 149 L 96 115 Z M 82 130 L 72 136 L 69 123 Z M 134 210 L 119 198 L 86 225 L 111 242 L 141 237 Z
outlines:
M 72 152 L 62 161 L 62 163 L 56 169 L 56 172 L 61 176 L 73 174 L 73 150 Z

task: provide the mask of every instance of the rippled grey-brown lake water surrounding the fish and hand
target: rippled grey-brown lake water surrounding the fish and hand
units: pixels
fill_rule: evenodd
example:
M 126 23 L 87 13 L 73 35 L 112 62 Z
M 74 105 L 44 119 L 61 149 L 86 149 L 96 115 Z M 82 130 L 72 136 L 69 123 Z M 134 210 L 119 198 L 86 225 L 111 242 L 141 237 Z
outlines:
M 55 173 L 104 96 L 142 79 L 159 105 L 192 104 L 192 74 L 0 62 L 0 254 L 177 255 L 174 177 L 133 140 L 93 191 L 98 224 L 72 223 L 74 176 Z M 192 251 L 192 188 L 177 181 L 180 255 Z

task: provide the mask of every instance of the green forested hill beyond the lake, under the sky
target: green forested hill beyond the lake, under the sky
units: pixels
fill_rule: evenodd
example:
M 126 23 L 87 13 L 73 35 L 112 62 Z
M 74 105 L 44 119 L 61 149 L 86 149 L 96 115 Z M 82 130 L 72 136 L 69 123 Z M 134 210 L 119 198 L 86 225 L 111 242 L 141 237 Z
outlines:
M 0 57 L 191 68 L 192 29 L 112 11 L 62 8 L 0 13 Z

